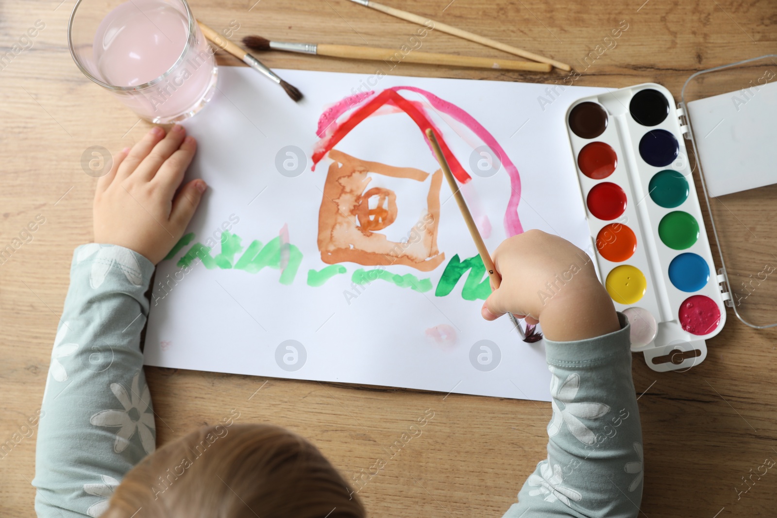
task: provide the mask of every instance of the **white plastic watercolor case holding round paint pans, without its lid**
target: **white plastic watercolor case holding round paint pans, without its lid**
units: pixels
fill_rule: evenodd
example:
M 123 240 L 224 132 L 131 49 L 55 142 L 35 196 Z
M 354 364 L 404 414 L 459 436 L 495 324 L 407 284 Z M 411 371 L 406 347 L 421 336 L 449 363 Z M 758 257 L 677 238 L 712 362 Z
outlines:
M 663 120 L 647 125 L 639 123 L 632 116 L 630 110 L 632 99 L 639 92 L 664 96 L 667 114 Z M 639 99 L 636 102 L 638 103 Z M 580 137 L 570 126 L 570 113 L 582 103 L 596 103 L 607 113 L 605 130 L 598 136 Z M 580 151 L 591 142 L 608 144 L 617 157 L 615 169 L 607 176 L 597 175 L 596 178 L 584 174 L 578 164 L 577 181 L 580 185 L 580 196 L 587 210 L 587 221 L 591 230 L 593 249 L 596 251 L 599 278 L 611 294 L 616 309 L 625 311 L 632 320 L 632 350 L 643 351 L 648 365 L 654 370 L 687 368 L 699 363 L 706 357 L 705 340 L 720 332 L 725 324 L 724 297 L 726 295 L 721 292 L 715 273 L 713 255 L 707 240 L 699 199 L 696 196 L 688 152 L 685 149 L 683 125 L 679 119 L 678 110 L 674 107 L 671 93 L 661 85 L 644 83 L 579 99 L 567 111 L 566 127 L 576 164 L 578 164 Z M 653 135 L 651 132 L 654 131 L 667 131 L 674 136 L 677 155 L 671 162 L 650 165 L 639 151 L 640 142 L 643 138 L 650 139 Z M 662 171 L 677 172 L 688 182 L 685 200 L 674 207 L 661 207 L 651 196 L 650 180 Z M 604 183 L 614 183 L 625 193 L 625 209 L 617 217 L 600 219 L 594 214 L 598 211 L 589 199 L 589 193 Z M 592 208 L 594 210 L 591 210 Z M 692 245 L 683 249 L 673 249 L 668 246 L 662 241 L 658 232 L 663 218 L 677 211 L 690 214 L 699 227 L 698 237 Z M 613 235 L 611 230 L 613 228 L 620 235 L 628 229 L 636 235 L 636 248 L 632 256 L 626 259 L 609 260 L 605 258 L 608 254 L 601 253 L 601 249 L 605 249 L 605 252 L 607 250 L 608 245 L 605 241 L 608 235 Z M 617 234 L 615 236 L 617 239 Z M 706 282 L 699 289 L 681 290 L 670 279 L 670 265 L 681 254 L 694 254 L 694 257 L 701 258 L 700 264 L 706 268 Z M 630 276 L 624 277 L 623 270 Z M 621 290 L 629 290 L 629 282 L 639 283 L 641 278 L 627 280 L 625 284 L 611 281 L 611 278 L 615 277 L 620 280 L 632 279 L 632 276 L 639 277 L 640 274 L 645 279 L 645 289 L 641 295 L 623 296 L 620 293 Z M 678 283 L 678 279 L 674 278 L 674 282 Z M 682 286 L 682 283 L 678 285 Z M 713 308 L 711 320 L 707 318 L 705 325 L 702 326 L 688 325 L 688 320 L 682 322 L 681 310 L 684 311 L 684 315 L 688 315 L 688 311 L 697 311 L 699 296 L 706 297 L 701 300 L 706 301 L 706 304 L 710 304 Z M 671 356 L 670 353 L 678 348 L 685 354 Z

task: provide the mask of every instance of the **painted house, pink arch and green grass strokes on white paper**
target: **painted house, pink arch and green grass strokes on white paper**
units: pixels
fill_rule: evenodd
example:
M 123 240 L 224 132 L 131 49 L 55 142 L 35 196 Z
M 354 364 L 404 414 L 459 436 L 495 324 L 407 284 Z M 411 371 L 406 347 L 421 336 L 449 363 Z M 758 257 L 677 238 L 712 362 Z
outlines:
M 399 94 L 400 90 L 408 90 L 420 94 L 426 102 L 410 101 Z M 352 110 L 352 111 L 351 111 Z M 437 234 L 440 224 L 440 189 L 442 186 L 442 171 L 425 172 L 410 167 L 395 167 L 362 160 L 347 155 L 334 147 L 359 123 L 369 116 L 399 113 L 409 116 L 419 128 L 420 137 L 426 136 L 423 131 L 434 128 L 437 134 L 443 132 L 434 125 L 428 110 L 447 114 L 452 122 L 462 124 L 472 131 L 480 141 L 493 149 L 500 156 L 500 164 L 510 176 L 510 200 L 504 214 L 506 234 L 515 235 L 523 231 L 517 213 L 517 204 L 521 194 L 521 179 L 517 169 L 510 162 L 507 153 L 503 151 L 493 136 L 480 125 L 469 113 L 454 106 L 430 92 L 415 87 L 397 86 L 382 92 L 361 93 L 350 96 L 326 110 L 319 117 L 319 127 L 316 134 L 321 140 L 313 150 L 313 165 L 328 155 L 332 160 L 326 174 L 326 182 L 322 189 L 322 197 L 318 217 L 318 249 L 321 259 L 328 265 L 340 265 L 343 262 L 355 262 L 364 266 L 410 266 L 421 272 L 437 269 L 445 260 L 445 253 L 437 248 Z M 351 111 L 350 114 L 348 112 Z M 440 138 L 441 148 L 460 183 L 469 183 L 472 177 L 462 167 L 448 144 Z M 428 145 L 428 142 L 427 142 Z M 430 151 L 431 152 L 431 151 Z M 416 207 L 418 220 L 411 228 L 402 229 L 406 236 L 400 241 L 392 241 L 381 231 L 395 224 L 400 210 L 398 194 L 393 189 L 381 186 L 371 186 L 378 176 L 392 179 L 406 179 L 403 185 L 406 189 L 427 189 L 426 206 Z M 429 180 L 427 182 L 427 180 Z M 428 186 L 427 186 L 428 184 Z M 404 207 L 403 210 L 412 210 Z M 173 249 L 172 256 L 193 240 L 193 234 L 184 236 L 179 245 Z M 280 269 L 280 283 L 291 284 L 302 260 L 300 249 L 289 242 L 287 224 L 281 229 L 280 235 L 267 245 L 254 240 L 243 252 L 242 239 L 237 235 L 224 232 L 221 235 L 221 253 L 211 256 L 210 246 L 199 242 L 184 254 L 177 262 L 179 267 L 188 267 L 195 259 L 200 259 L 207 269 L 242 269 L 249 273 L 259 273 L 266 266 Z M 236 257 L 239 252 L 242 256 Z M 332 276 L 346 273 L 343 266 L 326 267 L 317 271 L 308 271 L 308 286 L 320 287 Z M 485 300 L 491 293 L 486 270 L 479 256 L 461 259 L 453 254 L 443 273 L 434 294 L 444 297 L 451 294 L 458 280 L 467 274 L 461 290 L 461 296 L 467 301 Z M 421 293 L 431 290 L 430 279 L 418 279 L 411 274 L 398 275 L 382 270 L 356 269 L 351 281 L 364 285 L 373 280 L 386 280 L 397 287 L 410 287 Z

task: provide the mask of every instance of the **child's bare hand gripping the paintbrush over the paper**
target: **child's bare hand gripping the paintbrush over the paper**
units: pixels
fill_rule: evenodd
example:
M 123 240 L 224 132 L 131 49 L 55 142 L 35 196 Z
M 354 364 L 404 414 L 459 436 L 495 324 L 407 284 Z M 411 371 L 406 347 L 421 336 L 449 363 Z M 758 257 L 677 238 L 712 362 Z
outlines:
M 507 312 L 542 324 L 548 339 L 566 342 L 620 329 L 610 296 L 585 252 L 538 230 L 506 239 L 493 255 L 502 284 L 483 304 L 486 320 Z

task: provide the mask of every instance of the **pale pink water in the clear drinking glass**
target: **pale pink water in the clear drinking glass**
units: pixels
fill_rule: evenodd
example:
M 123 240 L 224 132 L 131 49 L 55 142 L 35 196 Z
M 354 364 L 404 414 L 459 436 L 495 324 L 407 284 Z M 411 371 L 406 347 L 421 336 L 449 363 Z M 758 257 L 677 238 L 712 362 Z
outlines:
M 186 12 L 160 0 L 124 2 L 99 24 L 93 47 L 97 69 L 106 83 L 136 86 L 178 63 L 158 84 L 123 99 L 155 122 L 176 120 L 207 102 L 215 84 L 213 53 L 196 25 L 195 30 L 183 54 L 189 36 Z

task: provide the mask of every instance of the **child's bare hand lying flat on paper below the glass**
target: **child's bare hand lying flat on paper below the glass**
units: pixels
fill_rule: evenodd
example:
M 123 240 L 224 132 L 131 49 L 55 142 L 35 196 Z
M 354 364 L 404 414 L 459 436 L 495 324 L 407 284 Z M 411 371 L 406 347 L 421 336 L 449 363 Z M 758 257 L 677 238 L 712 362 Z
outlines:
M 197 149 L 176 124 L 167 136 L 155 127 L 115 158 L 97 182 L 94 203 L 96 243 L 121 245 L 156 264 L 178 242 L 207 185 L 192 180 L 180 190 L 183 173 Z

